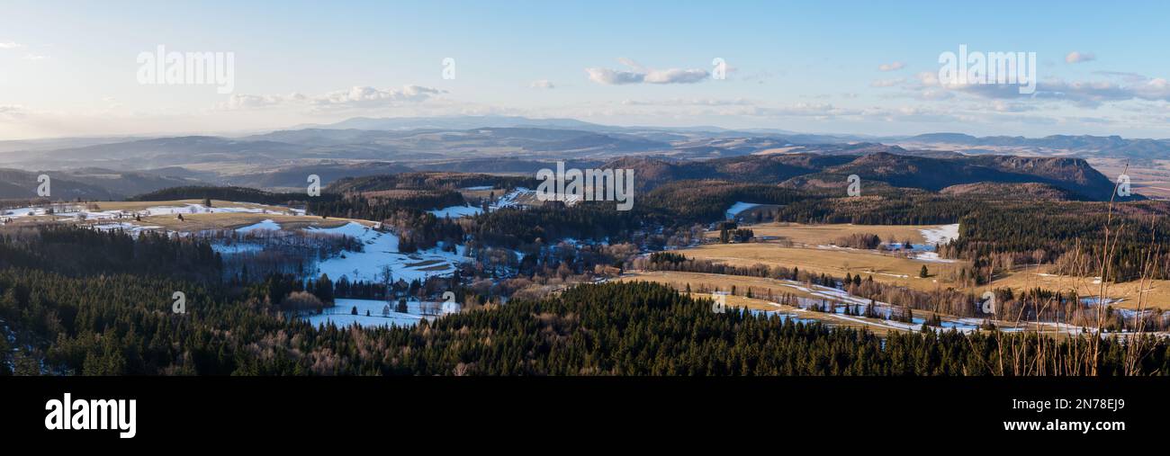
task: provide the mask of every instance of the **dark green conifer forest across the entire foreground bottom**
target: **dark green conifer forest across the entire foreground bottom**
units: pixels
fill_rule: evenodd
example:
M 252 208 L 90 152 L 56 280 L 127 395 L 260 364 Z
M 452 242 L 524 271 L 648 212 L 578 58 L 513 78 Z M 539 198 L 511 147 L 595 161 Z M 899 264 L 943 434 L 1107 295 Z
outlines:
M 166 311 L 171 290 L 187 292 L 187 315 Z M 777 315 L 716 313 L 710 300 L 648 283 L 579 285 L 392 329 L 317 329 L 289 319 L 267 292 L 0 269 L 0 320 L 16 340 L 0 338 L 0 375 L 39 366 L 88 375 L 986 375 L 1021 362 L 1000 344 L 1037 343 L 958 332 L 882 340 Z M 1054 366 L 1085 350 L 1082 339 L 1044 339 Z M 1119 374 L 1124 347 L 1102 344 L 1101 372 Z M 1166 361 L 1165 343 L 1152 343 L 1142 372 L 1170 372 Z

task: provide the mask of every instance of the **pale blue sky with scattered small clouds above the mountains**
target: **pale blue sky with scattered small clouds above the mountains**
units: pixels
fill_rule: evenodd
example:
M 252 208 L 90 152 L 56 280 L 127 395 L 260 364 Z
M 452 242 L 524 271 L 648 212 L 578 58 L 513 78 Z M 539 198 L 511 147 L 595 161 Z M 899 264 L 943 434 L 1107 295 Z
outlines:
M 1164 1 L 6 0 L 0 140 L 454 115 L 1170 138 L 1165 18 Z M 1034 53 L 1034 91 L 941 76 L 961 46 Z M 230 61 L 229 83 L 167 65 L 199 53 Z

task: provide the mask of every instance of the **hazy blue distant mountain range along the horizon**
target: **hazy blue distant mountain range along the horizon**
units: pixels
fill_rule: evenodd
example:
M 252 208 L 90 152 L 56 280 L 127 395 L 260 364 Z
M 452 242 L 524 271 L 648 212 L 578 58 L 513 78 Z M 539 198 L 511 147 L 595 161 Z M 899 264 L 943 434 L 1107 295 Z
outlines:
M 868 158 L 858 161 L 858 157 Z M 0 141 L 0 167 L 80 173 L 63 177 L 78 184 L 78 198 L 98 191 L 129 195 L 179 182 L 300 187 L 308 174 L 318 174 L 328 182 L 340 177 L 410 171 L 530 173 L 559 160 L 599 166 L 615 159 L 652 159 L 661 164 L 646 165 L 639 186 L 653 186 L 660 179 L 737 173 L 742 180 L 782 182 L 804 177 L 798 180 L 808 184 L 818 180 L 814 174 L 855 173 L 931 191 L 979 181 L 1026 181 L 1096 199 L 1101 184 L 1093 175 L 1096 172 L 1078 159 L 1149 164 L 1168 157 L 1170 140 L 1116 136 L 862 137 L 779 129 L 608 126 L 508 116 L 352 118 L 235 138 Z M 87 174 L 87 170 L 121 171 Z M 11 175 L 15 179 L 15 174 Z M 133 175 L 136 181 L 95 175 Z M 1021 180 L 1019 175 L 1027 178 Z M 0 196 L 23 192 L 27 186 L 21 179 L 20 184 L 5 181 L 4 188 L 15 185 L 20 191 L 11 189 Z

